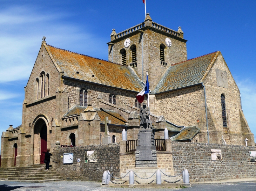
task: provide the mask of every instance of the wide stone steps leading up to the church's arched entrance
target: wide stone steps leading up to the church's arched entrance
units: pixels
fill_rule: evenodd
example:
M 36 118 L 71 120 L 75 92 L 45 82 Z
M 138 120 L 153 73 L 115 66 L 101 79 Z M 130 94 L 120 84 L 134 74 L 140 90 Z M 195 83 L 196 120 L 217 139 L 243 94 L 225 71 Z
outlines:
M 45 164 L 34 164 L 29 167 L 0 168 L 0 181 L 49 182 L 65 180 L 51 167 L 45 170 Z

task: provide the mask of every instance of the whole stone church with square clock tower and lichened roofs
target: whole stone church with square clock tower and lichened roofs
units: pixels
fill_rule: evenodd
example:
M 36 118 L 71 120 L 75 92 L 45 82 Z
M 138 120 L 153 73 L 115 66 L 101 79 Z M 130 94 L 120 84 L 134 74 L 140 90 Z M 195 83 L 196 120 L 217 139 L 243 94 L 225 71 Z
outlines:
M 146 72 L 155 139 L 254 146 L 240 91 L 220 51 L 187 60 L 181 27 L 152 21 L 116 33 L 108 61 L 48 45 L 43 38 L 25 87 L 22 124 L 1 136 L 1 167 L 43 163 L 47 148 L 136 140 Z M 147 96 L 145 96 L 147 100 Z

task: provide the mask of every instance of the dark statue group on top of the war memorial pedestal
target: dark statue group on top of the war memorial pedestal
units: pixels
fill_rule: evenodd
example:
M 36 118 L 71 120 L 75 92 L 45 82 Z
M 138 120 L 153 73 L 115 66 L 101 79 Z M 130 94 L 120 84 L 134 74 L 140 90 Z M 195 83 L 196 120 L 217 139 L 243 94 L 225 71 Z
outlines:
M 145 102 L 142 102 L 142 106 L 140 108 L 140 129 L 142 128 L 152 128 L 152 122 L 149 119 L 150 109 L 146 105 Z

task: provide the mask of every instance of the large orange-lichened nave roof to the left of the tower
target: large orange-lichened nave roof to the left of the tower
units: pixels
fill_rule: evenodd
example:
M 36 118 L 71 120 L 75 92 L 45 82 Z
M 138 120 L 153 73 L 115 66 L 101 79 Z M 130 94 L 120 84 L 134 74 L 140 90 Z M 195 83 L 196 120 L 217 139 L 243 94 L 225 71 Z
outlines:
M 64 76 L 140 92 L 143 83 L 128 66 L 89 57 L 44 44 Z M 79 73 L 77 73 L 79 72 Z

